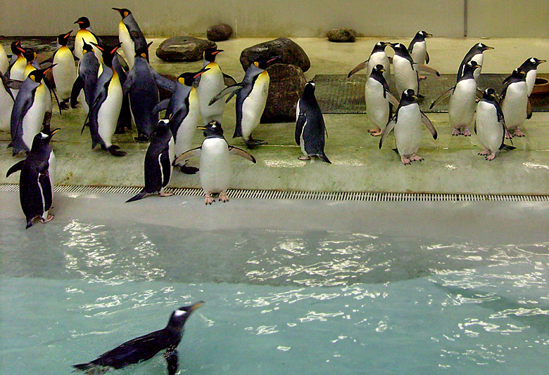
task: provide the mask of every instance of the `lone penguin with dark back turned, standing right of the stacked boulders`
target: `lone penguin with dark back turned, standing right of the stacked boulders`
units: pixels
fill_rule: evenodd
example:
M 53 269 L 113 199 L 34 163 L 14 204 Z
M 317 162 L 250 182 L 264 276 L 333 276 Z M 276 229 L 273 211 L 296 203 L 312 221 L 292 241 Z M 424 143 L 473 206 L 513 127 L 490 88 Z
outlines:
M 310 81 L 305 84 L 296 106 L 296 143 L 303 152 L 300 160 L 310 160 L 315 156 L 332 164 L 324 153 L 325 131 L 324 117 L 315 97 L 315 82 Z

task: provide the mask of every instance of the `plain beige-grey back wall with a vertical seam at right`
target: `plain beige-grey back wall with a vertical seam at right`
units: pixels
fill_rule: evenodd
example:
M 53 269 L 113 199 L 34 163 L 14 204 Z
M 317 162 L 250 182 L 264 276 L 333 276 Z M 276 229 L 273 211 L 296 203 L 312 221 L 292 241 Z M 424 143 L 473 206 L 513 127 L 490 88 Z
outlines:
M 57 35 L 75 29 L 82 15 L 97 34 L 117 34 L 120 17 L 111 10 L 116 6 L 130 8 L 151 37 L 204 34 L 219 22 L 231 25 L 237 37 L 320 37 L 334 27 L 372 37 L 410 37 L 419 29 L 462 37 L 465 0 L 48 0 L 28 1 L 27 7 L 22 2 L 0 0 L 0 34 Z M 549 37 L 545 0 L 468 0 L 468 5 L 469 37 Z M 23 11 L 31 7 L 32 13 Z

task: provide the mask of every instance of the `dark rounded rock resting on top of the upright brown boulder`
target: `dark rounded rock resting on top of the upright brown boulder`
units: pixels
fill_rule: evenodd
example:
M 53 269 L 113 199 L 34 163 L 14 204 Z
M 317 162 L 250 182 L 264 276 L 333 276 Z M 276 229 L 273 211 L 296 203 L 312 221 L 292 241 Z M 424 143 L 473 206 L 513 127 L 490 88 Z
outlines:
M 305 51 L 303 51 L 303 48 L 288 38 L 265 41 L 265 43 L 255 44 L 255 46 L 246 48 L 240 54 L 242 68 L 244 70 L 248 69 L 253 60 L 261 56 L 282 56 L 282 59 L 277 60 L 277 62 L 280 64 L 297 65 L 303 72 L 307 72 L 310 68 L 310 60 Z

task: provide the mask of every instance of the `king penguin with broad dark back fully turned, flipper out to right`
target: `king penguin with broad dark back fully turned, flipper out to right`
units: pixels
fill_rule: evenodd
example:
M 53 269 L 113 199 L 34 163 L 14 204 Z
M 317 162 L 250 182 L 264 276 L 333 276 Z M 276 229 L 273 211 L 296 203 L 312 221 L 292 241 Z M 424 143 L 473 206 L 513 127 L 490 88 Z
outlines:
M 160 76 L 149 62 L 147 55 L 149 46 L 152 42 L 143 48 L 137 48 L 134 56 L 134 65 L 122 87 L 124 93 L 130 96 L 130 107 L 137 128 L 138 136 L 135 140 L 149 140 L 153 127 L 158 123 L 158 114 L 153 113 L 154 107 L 158 104 L 158 86 L 164 86 L 170 91 L 174 91 L 174 82 Z M 167 85 L 164 82 L 168 81 Z

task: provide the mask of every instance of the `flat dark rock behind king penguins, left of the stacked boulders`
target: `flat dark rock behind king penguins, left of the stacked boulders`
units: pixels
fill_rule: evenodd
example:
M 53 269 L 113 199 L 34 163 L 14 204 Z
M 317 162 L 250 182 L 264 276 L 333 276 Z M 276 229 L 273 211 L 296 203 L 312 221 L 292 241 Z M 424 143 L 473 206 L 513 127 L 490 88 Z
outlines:
M 205 39 L 171 37 L 158 46 L 156 55 L 164 61 L 198 61 L 207 48 L 217 48 L 217 45 Z

